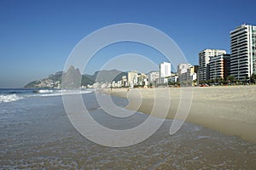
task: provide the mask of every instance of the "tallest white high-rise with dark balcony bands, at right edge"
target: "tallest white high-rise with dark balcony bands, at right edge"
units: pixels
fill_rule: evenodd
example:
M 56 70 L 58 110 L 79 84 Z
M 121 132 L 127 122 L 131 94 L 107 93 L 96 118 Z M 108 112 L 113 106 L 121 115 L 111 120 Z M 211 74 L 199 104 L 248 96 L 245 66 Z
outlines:
M 256 26 L 241 25 L 230 31 L 230 74 L 245 81 L 256 73 Z

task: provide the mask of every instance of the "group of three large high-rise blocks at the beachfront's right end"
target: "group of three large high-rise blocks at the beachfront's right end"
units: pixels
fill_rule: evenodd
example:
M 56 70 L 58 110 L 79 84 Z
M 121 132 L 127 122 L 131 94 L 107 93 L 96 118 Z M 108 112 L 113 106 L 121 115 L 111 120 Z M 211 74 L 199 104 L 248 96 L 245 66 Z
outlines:
M 256 26 L 241 25 L 230 31 L 230 51 L 205 49 L 199 53 L 199 82 L 226 79 L 247 81 L 256 73 Z

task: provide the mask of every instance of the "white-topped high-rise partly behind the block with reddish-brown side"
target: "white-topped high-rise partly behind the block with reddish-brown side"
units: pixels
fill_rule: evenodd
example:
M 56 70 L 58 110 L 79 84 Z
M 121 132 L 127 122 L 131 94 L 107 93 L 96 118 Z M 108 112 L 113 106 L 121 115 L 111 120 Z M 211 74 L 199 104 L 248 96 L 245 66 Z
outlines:
M 199 69 L 198 69 L 198 80 L 209 80 L 209 61 L 213 56 L 226 54 L 225 50 L 222 49 L 205 49 L 202 50 L 199 55 Z

